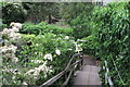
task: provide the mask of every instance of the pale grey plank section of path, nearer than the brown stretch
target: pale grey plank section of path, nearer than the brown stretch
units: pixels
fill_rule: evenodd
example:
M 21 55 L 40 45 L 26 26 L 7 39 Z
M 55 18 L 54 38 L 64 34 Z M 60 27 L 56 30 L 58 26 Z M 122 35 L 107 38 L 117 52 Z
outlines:
M 99 76 L 99 67 L 92 65 L 86 65 L 89 70 L 82 70 L 77 73 L 74 80 L 75 85 L 101 85 Z M 93 71 L 94 70 L 94 71 Z

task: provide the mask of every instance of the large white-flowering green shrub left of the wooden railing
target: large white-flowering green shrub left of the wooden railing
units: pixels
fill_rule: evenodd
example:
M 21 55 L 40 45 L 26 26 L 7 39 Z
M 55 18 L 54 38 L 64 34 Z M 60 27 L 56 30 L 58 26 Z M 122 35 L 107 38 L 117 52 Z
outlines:
M 10 26 L 12 28 L 1 32 L 2 40 L 6 40 L 0 48 L 3 85 L 41 85 L 61 72 L 76 52 L 73 37 L 53 33 L 18 34 L 22 24 L 11 23 Z

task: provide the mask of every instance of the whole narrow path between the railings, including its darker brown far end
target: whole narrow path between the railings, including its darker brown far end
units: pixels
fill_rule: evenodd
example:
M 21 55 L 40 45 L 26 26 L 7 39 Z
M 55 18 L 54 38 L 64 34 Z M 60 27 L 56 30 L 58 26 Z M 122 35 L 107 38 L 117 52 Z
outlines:
M 84 57 L 82 70 L 76 72 L 74 85 L 101 85 L 99 71 L 96 60 Z

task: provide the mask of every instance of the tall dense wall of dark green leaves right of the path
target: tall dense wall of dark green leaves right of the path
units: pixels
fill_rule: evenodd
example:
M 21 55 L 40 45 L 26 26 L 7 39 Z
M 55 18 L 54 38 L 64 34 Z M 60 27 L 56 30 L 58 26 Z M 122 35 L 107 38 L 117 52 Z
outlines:
M 115 85 L 122 85 L 122 82 L 115 70 L 114 59 L 119 74 L 126 85 L 130 85 L 130 3 L 109 3 L 106 7 L 95 8 L 92 14 L 92 35 L 95 42 L 100 44 L 96 54 L 108 62 L 109 75 Z M 102 76 L 105 71 L 102 72 Z M 105 78 L 103 78 L 105 79 Z M 104 80 L 103 80 L 103 84 Z

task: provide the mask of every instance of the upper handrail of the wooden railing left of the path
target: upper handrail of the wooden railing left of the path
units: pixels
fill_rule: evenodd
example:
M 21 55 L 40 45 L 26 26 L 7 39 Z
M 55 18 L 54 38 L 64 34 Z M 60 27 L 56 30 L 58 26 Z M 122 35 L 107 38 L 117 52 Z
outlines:
M 79 62 L 82 61 L 82 59 L 76 61 L 75 63 L 73 63 L 70 65 L 70 63 L 73 62 L 74 58 L 76 57 L 81 57 L 82 58 L 83 53 L 76 53 L 72 57 L 70 61 L 68 62 L 67 66 L 65 67 L 65 70 L 63 70 L 61 73 L 58 73 L 57 75 L 55 75 L 54 77 L 50 78 L 49 80 L 47 80 L 46 83 L 43 83 L 41 86 L 39 87 L 48 87 L 50 85 L 52 85 L 54 82 L 56 82 L 60 77 L 62 77 L 64 74 L 66 74 L 73 66 L 75 66 L 76 64 L 78 64 Z M 68 83 L 69 77 L 65 80 L 65 85 Z

